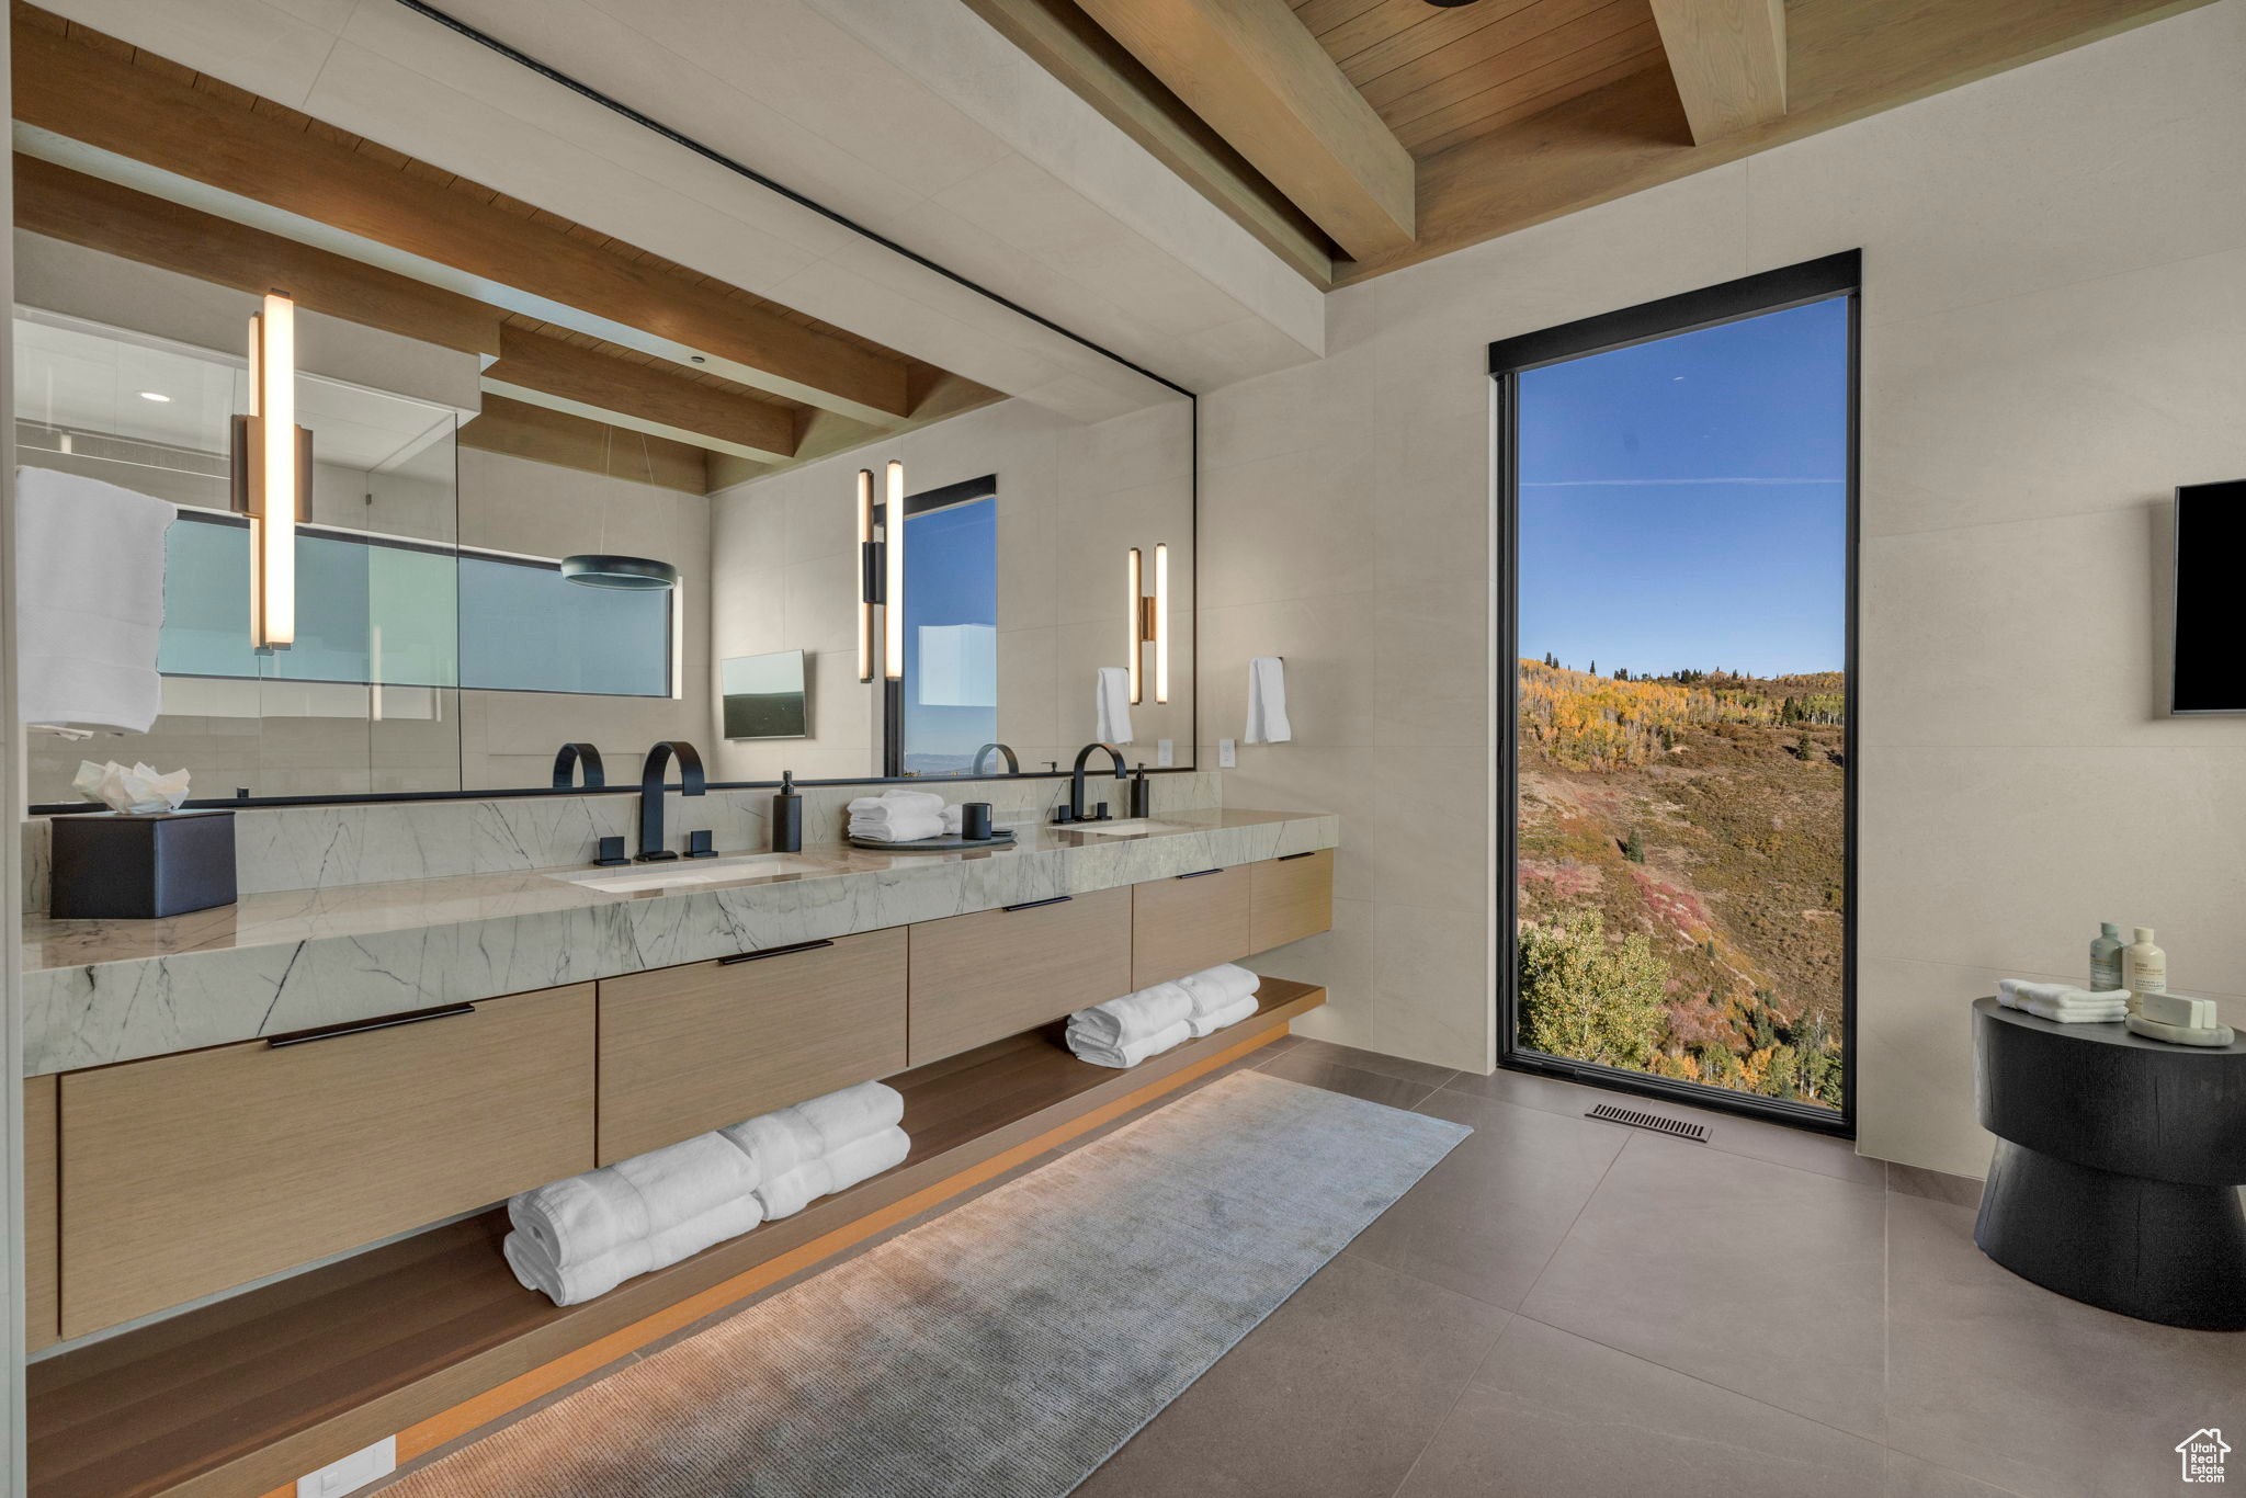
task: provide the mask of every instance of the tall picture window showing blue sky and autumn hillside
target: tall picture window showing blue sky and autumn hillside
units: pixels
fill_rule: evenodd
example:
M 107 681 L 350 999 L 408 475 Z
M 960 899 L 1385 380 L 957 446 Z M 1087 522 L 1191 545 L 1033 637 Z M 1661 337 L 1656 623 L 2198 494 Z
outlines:
M 1855 256 L 1491 373 L 1505 1060 L 1844 1130 Z

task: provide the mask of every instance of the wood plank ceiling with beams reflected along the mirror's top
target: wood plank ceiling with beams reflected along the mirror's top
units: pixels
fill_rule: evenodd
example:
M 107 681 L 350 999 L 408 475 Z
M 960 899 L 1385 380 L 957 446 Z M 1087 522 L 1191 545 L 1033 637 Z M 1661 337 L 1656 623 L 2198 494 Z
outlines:
M 263 200 L 341 229 L 409 222 L 413 213 L 398 204 L 416 198 L 420 222 L 449 229 L 449 240 L 472 247 L 469 256 L 485 256 L 465 270 L 494 272 L 510 261 L 517 267 L 550 265 L 553 278 L 544 283 L 523 274 L 487 274 L 501 305 L 436 287 L 411 292 L 416 283 L 389 270 L 18 155 L 18 216 L 25 227 L 225 285 L 287 265 L 303 276 L 299 301 L 312 310 L 451 348 L 467 344 L 474 346 L 467 350 L 496 359 L 485 371 L 485 413 L 460 429 L 467 447 L 707 490 L 999 400 L 997 391 L 923 359 L 85 25 L 20 0 L 11 13 L 16 117 L 25 124 L 222 191 L 249 186 L 249 180 L 225 177 L 218 166 L 225 157 L 254 164 L 252 180 L 283 182 L 294 166 L 301 168 L 294 182 L 303 195 Z M 162 121 L 177 124 L 189 115 L 198 130 L 186 139 L 195 148 L 184 159 L 166 157 L 150 135 Z M 193 159 L 195 150 L 207 153 L 209 164 Z M 299 150 L 301 159 L 290 159 Z M 391 175 L 395 186 L 384 186 Z M 451 247 L 389 243 L 424 254 Z M 573 267 L 577 285 L 559 285 Z M 723 339 L 725 355 L 770 368 L 775 377 L 764 386 L 730 380 L 701 368 L 701 359 L 631 348 L 503 305 L 503 292 L 570 305 L 618 296 L 604 287 L 622 287 L 629 308 L 640 314 L 615 317 L 622 305 L 615 301 L 595 305 L 595 312 L 611 312 L 609 321 L 649 328 L 651 344 L 667 344 L 676 328 L 692 328 L 694 337 Z M 243 283 L 243 290 L 252 287 Z M 833 400 L 818 389 L 820 371 L 836 380 L 829 386 L 838 391 Z M 813 377 L 809 400 L 770 389 L 802 389 L 806 377 Z

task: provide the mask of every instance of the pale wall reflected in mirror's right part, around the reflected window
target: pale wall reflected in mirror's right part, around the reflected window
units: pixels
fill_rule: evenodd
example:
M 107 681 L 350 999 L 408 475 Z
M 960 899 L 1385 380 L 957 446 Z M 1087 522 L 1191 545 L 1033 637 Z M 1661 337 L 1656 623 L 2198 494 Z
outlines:
M 1132 707 L 1132 761 L 1193 737 L 1193 407 L 1071 422 L 1004 400 L 894 442 L 723 490 L 712 503 L 714 656 L 811 654 L 811 739 L 719 741 L 725 779 L 880 775 L 880 712 L 858 685 L 856 476 L 889 458 L 912 492 L 997 476 L 997 737 L 1024 770 L 1094 734 L 1092 678 L 1127 660 L 1127 548 L 1170 546 L 1170 703 Z M 712 728 L 712 739 L 716 730 Z M 1204 764 L 1215 764 L 1206 759 Z

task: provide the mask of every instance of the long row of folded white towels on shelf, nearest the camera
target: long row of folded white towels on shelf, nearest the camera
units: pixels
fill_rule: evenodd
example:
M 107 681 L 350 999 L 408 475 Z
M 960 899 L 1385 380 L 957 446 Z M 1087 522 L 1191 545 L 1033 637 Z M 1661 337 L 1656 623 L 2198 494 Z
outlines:
M 903 1116 L 894 1087 L 862 1083 L 526 1190 L 508 1202 L 501 1251 L 555 1305 L 604 1296 L 901 1166 Z

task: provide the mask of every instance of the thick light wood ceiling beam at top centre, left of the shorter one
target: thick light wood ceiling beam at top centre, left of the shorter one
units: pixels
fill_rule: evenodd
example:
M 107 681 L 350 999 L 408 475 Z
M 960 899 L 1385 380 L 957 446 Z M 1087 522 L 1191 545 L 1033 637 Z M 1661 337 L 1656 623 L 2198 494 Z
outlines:
M 1287 0 L 1078 0 L 1357 258 L 1413 243 L 1413 159 Z

